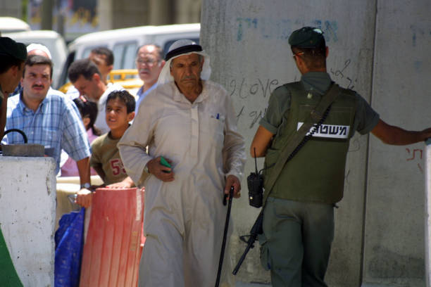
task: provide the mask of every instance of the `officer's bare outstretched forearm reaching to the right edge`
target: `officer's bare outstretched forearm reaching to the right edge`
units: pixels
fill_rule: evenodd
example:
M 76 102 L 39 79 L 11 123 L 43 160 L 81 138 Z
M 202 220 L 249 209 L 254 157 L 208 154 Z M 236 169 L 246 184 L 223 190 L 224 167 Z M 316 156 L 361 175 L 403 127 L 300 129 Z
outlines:
M 425 141 L 425 139 L 431 137 L 431 128 L 424 129 L 420 132 L 408 131 L 406 129 L 401 129 L 401 127 L 388 125 L 383 120 L 379 120 L 371 133 L 385 144 L 404 146 L 406 144 L 415 144 L 419 141 Z

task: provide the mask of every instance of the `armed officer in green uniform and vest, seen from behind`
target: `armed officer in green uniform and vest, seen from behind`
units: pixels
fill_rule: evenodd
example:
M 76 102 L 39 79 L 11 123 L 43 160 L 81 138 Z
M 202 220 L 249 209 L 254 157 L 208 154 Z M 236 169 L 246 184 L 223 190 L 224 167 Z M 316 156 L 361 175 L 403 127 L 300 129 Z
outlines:
M 303 27 L 292 33 L 289 44 L 301 81 L 273 91 L 250 148 L 252 157 L 266 157 L 267 167 L 261 261 L 270 269 L 275 287 L 327 286 L 324 277 L 334 238 L 333 208 L 343 196 L 349 139 L 355 131 L 371 132 L 386 144 L 413 144 L 430 137 L 431 129 L 411 132 L 387 125 L 355 91 L 339 88 L 323 124 L 282 167 L 275 183 L 267 186 L 289 137 L 332 87 L 323 32 Z

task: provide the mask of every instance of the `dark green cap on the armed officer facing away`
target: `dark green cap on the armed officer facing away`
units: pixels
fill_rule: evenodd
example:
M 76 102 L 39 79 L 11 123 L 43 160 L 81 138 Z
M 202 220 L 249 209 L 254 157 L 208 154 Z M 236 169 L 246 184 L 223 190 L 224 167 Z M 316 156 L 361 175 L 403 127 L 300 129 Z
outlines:
M 302 27 L 292 32 L 289 37 L 289 44 L 299 48 L 313 49 L 322 44 L 325 46 L 325 37 L 323 37 L 323 32 L 319 28 Z

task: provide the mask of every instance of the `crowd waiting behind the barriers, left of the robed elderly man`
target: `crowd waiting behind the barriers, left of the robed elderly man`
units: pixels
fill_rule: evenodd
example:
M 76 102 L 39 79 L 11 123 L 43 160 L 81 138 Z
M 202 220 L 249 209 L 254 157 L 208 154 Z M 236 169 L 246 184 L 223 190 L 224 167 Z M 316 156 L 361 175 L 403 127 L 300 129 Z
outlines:
M 89 174 L 99 174 L 107 186 L 135 186 L 125 173 L 115 141 L 124 132 L 118 133 L 118 128 L 127 129 L 137 113 L 137 105 L 156 87 L 158 73 L 164 63 L 161 48 L 147 44 L 138 49 L 136 65 L 139 77 L 145 84 L 139 88 L 137 95 L 132 96 L 119 84 L 108 81 L 114 59 L 112 51 L 105 47 L 92 49 L 88 58 L 76 60 L 70 66 L 68 77 L 73 85 L 63 94 L 51 88 L 54 63 L 46 46 L 30 44 L 25 47 L 7 37 L 1 38 L 1 44 L 5 54 L 0 56 L 7 59 L 2 63 L 8 68 L 0 83 L 3 87 L 1 137 L 5 129 L 22 130 L 29 143 L 42 144 L 46 151 L 50 151 L 49 156 L 56 160 L 58 176 L 79 176 L 82 189 L 91 186 Z M 13 75 L 10 75 L 12 72 Z M 12 76 L 15 80 L 8 80 Z M 13 91 L 8 86 L 13 87 Z M 113 107 L 108 104 L 108 96 L 115 94 L 117 103 Z M 130 106 L 133 113 L 129 111 Z M 118 115 L 123 107 L 126 108 L 127 118 L 130 118 L 127 122 Z M 102 135 L 105 141 L 99 139 L 95 146 L 89 146 Z M 20 134 L 10 133 L 4 136 L 2 142 L 20 144 L 23 138 Z M 113 153 L 106 156 L 104 151 L 111 148 Z M 90 153 L 93 155 L 91 160 Z M 97 154 L 104 156 L 97 158 Z M 78 196 L 77 202 L 87 207 L 81 200 Z

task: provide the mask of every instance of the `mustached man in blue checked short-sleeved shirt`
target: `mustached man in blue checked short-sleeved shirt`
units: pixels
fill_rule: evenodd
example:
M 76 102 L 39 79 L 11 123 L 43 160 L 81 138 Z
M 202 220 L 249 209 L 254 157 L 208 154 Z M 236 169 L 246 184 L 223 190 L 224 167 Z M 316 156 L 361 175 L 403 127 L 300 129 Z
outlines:
M 81 187 L 90 186 L 87 134 L 80 113 L 63 93 L 50 89 L 52 62 L 49 58 L 32 55 L 24 65 L 21 80 L 23 91 L 8 98 L 6 129 L 21 129 L 28 142 L 51 148 L 59 170 L 61 149 L 77 161 Z M 20 134 L 5 136 L 7 144 L 22 144 Z

